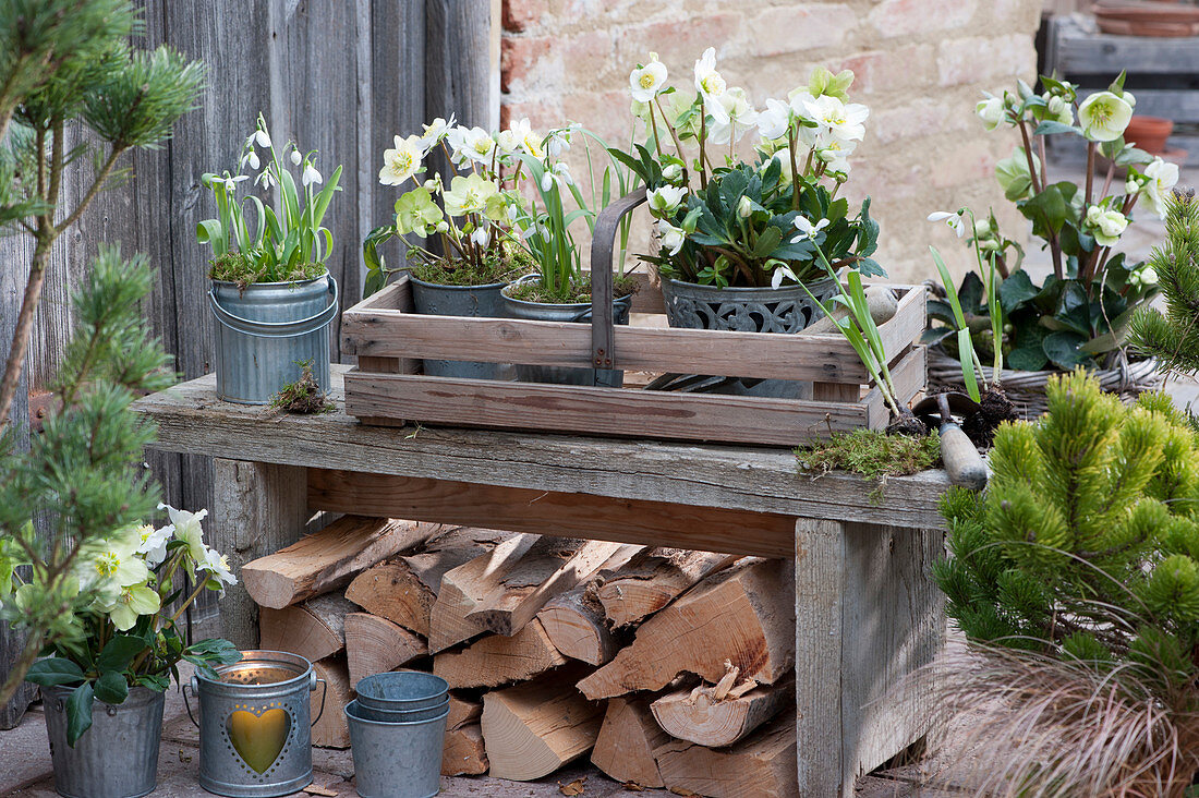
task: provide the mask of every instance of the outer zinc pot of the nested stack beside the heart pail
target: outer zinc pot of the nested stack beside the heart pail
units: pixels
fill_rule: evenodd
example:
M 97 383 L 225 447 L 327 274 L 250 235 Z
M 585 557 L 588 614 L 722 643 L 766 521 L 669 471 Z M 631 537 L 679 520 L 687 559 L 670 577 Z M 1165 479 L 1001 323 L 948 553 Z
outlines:
M 345 704 L 354 781 L 362 798 L 432 798 L 441 790 L 441 751 L 448 706 L 433 718 L 390 724 Z

